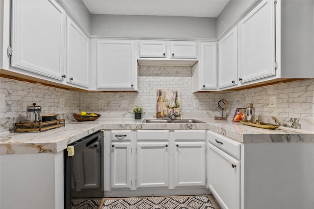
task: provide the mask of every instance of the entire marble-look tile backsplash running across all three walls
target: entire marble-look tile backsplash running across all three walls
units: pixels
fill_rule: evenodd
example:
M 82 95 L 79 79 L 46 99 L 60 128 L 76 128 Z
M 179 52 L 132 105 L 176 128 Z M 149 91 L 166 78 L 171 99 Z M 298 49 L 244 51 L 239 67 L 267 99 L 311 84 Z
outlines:
M 314 127 L 314 79 L 294 81 L 241 90 L 228 93 L 191 93 L 192 78 L 190 67 L 140 67 L 138 86 L 135 92 L 72 92 L 40 84 L 30 84 L 11 79 L 0 78 L 1 102 L 5 96 L 5 107 L 0 107 L 1 127 L 12 129 L 13 122 L 26 116 L 26 107 L 32 102 L 43 108 L 43 113 L 64 114 L 73 119 L 72 113 L 81 111 L 96 112 L 105 117 L 133 117 L 133 106 L 143 106 L 144 117 L 156 115 L 157 89 L 179 89 L 183 117 L 220 116 L 217 107 L 220 99 L 228 101 L 224 112 L 232 121 L 235 108 L 246 107 L 253 102 L 256 116 L 263 122 L 274 123 L 276 117 L 281 125 L 313 131 Z M 277 107 L 269 108 L 269 96 L 276 96 Z M 65 107 L 60 108 L 60 98 L 65 99 Z M 98 108 L 98 100 L 104 100 L 105 107 Z M 127 100 L 129 108 L 121 108 L 121 100 Z M 199 107 L 194 108 L 194 101 Z M 125 115 L 126 114 L 126 115 Z

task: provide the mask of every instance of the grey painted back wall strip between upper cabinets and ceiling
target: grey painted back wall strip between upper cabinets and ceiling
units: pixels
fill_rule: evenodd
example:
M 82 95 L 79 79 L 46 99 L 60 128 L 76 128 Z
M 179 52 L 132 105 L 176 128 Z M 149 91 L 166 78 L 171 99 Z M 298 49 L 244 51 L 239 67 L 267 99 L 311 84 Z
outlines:
M 92 15 L 91 35 L 114 38 L 214 39 L 216 19 L 176 16 Z

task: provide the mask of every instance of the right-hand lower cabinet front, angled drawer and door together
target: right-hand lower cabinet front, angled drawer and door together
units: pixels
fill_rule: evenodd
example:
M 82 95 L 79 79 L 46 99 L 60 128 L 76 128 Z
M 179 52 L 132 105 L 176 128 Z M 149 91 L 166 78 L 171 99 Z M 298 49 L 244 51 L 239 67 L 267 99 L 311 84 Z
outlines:
M 207 160 L 208 187 L 219 205 L 240 209 L 240 143 L 208 132 Z

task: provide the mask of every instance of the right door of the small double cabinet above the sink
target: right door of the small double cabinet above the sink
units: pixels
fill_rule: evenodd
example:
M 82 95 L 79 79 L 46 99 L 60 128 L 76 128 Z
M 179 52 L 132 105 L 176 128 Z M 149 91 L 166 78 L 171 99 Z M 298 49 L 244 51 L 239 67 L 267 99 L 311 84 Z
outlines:
M 197 58 L 197 42 L 172 41 L 170 44 L 171 58 Z

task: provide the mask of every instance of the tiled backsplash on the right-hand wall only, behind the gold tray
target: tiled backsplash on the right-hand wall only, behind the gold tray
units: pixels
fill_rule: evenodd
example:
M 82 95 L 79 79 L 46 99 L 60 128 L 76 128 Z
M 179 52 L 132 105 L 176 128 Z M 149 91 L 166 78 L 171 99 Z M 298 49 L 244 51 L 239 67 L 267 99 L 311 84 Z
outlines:
M 269 96 L 276 96 L 276 108 L 270 108 Z M 313 131 L 314 127 L 314 79 L 276 84 L 266 87 L 227 93 L 233 117 L 235 108 L 246 107 L 252 102 L 256 117 L 261 121 L 274 123 L 275 116 L 281 125 Z

